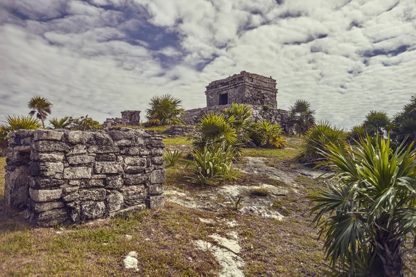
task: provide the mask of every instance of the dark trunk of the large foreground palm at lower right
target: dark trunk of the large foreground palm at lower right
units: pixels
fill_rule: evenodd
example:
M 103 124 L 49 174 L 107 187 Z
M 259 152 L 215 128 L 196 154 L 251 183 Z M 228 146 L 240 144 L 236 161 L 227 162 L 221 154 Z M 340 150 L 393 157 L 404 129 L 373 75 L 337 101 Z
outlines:
M 403 240 L 395 233 L 376 229 L 377 256 L 383 265 L 385 277 L 404 277 L 403 260 L 401 259 L 401 244 Z

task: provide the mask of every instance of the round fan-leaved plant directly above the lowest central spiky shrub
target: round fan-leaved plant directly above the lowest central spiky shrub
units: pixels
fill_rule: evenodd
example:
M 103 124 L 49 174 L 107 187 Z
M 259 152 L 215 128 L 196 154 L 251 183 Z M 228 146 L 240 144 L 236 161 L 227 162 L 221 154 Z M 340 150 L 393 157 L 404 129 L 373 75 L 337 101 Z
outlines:
M 234 117 L 225 119 L 222 114 L 205 115 L 193 135 L 193 145 L 200 151 L 205 147 L 218 149 L 224 144 L 239 149 L 236 130 L 230 124 L 233 120 Z

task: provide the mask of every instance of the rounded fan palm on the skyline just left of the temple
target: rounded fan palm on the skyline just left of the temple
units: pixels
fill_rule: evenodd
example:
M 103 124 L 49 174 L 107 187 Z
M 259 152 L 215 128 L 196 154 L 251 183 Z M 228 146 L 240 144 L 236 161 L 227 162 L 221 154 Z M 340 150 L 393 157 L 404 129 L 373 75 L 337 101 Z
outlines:
M 150 125 L 184 124 L 180 118 L 184 109 L 180 108 L 182 100 L 174 98 L 170 94 L 154 96 L 150 99 L 150 109 L 146 109 L 148 123 Z

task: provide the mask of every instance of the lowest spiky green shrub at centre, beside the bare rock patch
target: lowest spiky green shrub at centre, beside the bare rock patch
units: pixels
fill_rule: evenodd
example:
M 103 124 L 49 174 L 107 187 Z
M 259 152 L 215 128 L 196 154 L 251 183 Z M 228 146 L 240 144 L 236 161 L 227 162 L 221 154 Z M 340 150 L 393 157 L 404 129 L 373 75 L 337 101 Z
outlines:
M 235 151 L 231 145 L 218 149 L 203 148 L 202 151 L 194 149 L 191 152 L 192 160 L 187 168 L 193 172 L 189 176 L 198 184 L 216 184 L 223 181 L 238 179 L 239 170 L 232 168 Z

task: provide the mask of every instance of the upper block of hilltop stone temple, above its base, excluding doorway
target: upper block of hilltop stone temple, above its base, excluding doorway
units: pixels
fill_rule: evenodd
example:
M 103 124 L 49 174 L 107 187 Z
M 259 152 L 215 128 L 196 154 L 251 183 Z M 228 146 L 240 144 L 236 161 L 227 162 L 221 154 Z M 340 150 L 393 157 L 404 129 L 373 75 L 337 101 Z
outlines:
M 220 104 L 220 96 L 227 93 L 227 104 L 269 105 L 277 107 L 276 80 L 271 77 L 241 71 L 229 78 L 210 82 L 206 87 L 207 107 Z

